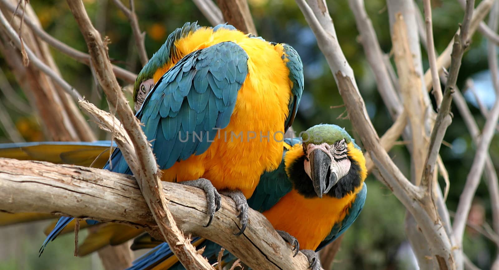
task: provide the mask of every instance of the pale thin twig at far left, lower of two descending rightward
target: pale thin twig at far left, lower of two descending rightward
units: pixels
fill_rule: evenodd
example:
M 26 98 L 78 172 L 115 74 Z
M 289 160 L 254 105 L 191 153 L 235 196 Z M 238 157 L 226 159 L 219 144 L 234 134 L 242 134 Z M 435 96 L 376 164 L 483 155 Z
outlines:
M 20 41 L 17 33 L 12 28 L 12 26 L 10 26 L 10 24 L 8 24 L 7 19 L 5 18 L 5 16 L 1 12 L 0 12 L 0 23 L 3 25 L 5 32 L 10 37 L 10 39 L 14 42 L 16 47 L 18 49 L 21 49 L 21 47 L 22 47 L 21 41 Z M 29 49 L 27 46 L 24 46 L 24 49 L 25 49 L 29 59 L 33 63 L 33 65 L 35 65 L 41 72 L 45 73 L 50 78 L 52 78 L 52 80 L 55 83 L 57 83 L 62 89 L 64 89 L 64 91 L 66 91 L 66 93 L 71 95 L 71 97 L 74 100 L 77 101 L 77 100 L 82 98 L 80 93 L 78 93 L 78 91 L 76 91 L 76 89 L 74 89 L 74 87 L 72 87 L 70 84 L 68 84 L 64 79 L 62 79 L 58 74 L 56 74 L 49 66 L 47 66 L 40 59 L 38 59 L 38 57 L 36 57 L 36 55 L 31 51 L 31 49 Z

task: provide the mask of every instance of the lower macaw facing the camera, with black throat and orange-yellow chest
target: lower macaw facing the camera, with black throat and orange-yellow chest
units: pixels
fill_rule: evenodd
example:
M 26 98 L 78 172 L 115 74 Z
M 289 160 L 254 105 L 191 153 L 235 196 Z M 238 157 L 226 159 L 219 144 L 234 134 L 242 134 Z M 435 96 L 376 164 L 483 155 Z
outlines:
M 317 125 L 301 138 L 285 140 L 281 164 L 260 177 L 248 203 L 296 251 L 301 248 L 312 269 L 320 269 L 315 252 L 338 238 L 358 217 L 367 195 L 366 176 L 364 155 L 350 135 L 336 125 Z M 204 247 L 203 256 L 217 262 L 220 246 L 201 238 L 193 244 Z M 234 258 L 224 256 L 226 261 Z M 142 269 L 183 267 L 163 243 L 130 268 Z

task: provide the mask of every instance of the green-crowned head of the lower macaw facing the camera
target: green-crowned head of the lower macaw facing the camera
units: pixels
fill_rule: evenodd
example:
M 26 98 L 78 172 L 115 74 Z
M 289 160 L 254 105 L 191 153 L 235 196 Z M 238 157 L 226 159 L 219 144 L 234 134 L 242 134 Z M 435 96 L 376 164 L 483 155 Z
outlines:
M 316 125 L 301 135 L 304 169 L 317 197 L 342 198 L 366 177 L 365 158 L 352 137 L 336 125 Z

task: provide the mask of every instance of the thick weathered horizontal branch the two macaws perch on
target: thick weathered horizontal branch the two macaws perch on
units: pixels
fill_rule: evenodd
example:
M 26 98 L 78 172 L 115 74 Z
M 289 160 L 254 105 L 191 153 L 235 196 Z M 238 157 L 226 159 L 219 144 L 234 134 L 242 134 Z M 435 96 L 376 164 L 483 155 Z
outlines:
M 253 269 L 306 269 L 308 260 L 280 238 L 260 213 L 250 209 L 244 236 L 235 236 L 238 210 L 222 196 L 213 223 L 206 224 L 206 196 L 194 187 L 162 182 L 168 208 L 180 229 L 222 245 Z M 37 212 L 119 222 L 157 229 L 137 181 L 107 170 L 0 158 L 0 211 Z

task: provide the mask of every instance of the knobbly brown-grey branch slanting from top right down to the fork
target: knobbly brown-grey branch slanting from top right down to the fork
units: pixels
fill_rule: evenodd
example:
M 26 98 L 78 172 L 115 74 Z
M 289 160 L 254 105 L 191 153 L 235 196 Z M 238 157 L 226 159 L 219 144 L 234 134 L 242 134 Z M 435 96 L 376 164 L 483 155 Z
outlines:
M 445 132 L 449 125 L 451 124 L 451 103 L 452 103 L 452 93 L 456 87 L 456 82 L 458 80 L 459 69 L 461 68 L 461 61 L 465 50 L 470 45 L 468 39 L 470 24 L 474 12 L 475 0 L 468 0 L 467 6 L 463 18 L 463 24 L 460 27 L 460 33 L 454 35 L 454 46 L 452 49 L 452 59 L 451 67 L 449 70 L 449 75 L 447 79 L 447 84 L 444 90 L 444 96 L 440 110 L 437 114 L 437 120 L 432 131 L 430 138 L 430 147 L 428 151 L 428 156 L 425 162 L 425 172 L 423 178 L 421 179 L 421 184 L 426 186 L 428 190 L 431 190 L 431 184 L 433 183 L 433 174 L 435 171 L 435 164 L 437 161 L 438 154 L 440 152 L 440 146 L 442 145 L 442 140 L 444 139 Z M 459 241 L 458 241 L 459 243 Z

